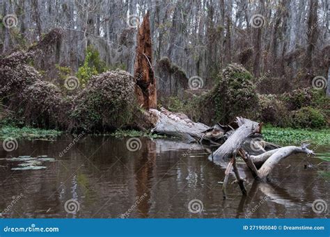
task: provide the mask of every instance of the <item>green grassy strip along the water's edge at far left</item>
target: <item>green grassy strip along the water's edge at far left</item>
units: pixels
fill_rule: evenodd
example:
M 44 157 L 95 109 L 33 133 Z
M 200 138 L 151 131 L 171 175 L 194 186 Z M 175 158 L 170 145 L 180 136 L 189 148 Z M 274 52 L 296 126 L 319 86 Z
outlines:
M 18 128 L 16 126 L 1 126 L 0 128 L 0 139 L 6 138 L 45 138 L 53 139 L 60 135 L 61 131 L 49 130 L 49 129 L 35 129 L 28 126 Z

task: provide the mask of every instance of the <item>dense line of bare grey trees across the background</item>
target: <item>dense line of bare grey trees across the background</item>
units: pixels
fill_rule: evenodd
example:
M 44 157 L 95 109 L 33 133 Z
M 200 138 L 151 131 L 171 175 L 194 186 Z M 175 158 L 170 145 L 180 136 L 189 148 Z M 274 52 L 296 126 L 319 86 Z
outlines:
M 153 64 L 167 57 L 182 67 L 187 78 L 201 76 L 206 87 L 233 62 L 254 76 L 266 75 L 262 92 L 311 85 L 315 76 L 330 74 L 327 0 L 13 0 L 0 4 L 3 19 L 8 14 L 17 17 L 12 19 L 15 27 L 0 29 L 2 54 L 40 40 L 53 28 L 62 29 L 53 54 L 36 60 L 49 78 L 56 77 L 56 64 L 77 72 L 89 44 L 108 67 L 132 73 L 136 25 L 147 11 Z M 162 74 L 157 76 L 162 79 Z

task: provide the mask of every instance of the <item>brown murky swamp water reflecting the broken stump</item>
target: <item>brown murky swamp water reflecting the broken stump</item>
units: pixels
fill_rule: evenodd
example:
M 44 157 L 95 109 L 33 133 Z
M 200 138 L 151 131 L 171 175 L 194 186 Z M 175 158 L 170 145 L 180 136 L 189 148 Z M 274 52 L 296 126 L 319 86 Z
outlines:
M 72 137 L 62 136 L 53 142 L 19 140 L 15 151 L 1 149 L 0 158 L 46 155 L 56 161 L 43 162 L 47 168 L 42 170 L 11 170 L 18 161 L 0 161 L 0 218 L 120 218 L 124 213 L 128 218 L 326 215 L 312 209 L 315 199 L 329 203 L 329 178 L 318 172 L 329 171 L 329 165 L 318 158 L 307 158 L 313 164 L 308 165 L 306 156 L 290 156 L 276 167 L 269 182 L 249 179 L 247 197 L 232 183 L 228 199 L 223 200 L 224 170 L 208 161 L 201 147 L 141 138 L 141 149 L 130 152 L 127 140 L 85 136 L 62 157 L 60 152 Z M 329 150 L 319 147 L 317 152 Z M 231 176 L 230 183 L 233 180 Z M 77 204 L 75 213 L 65 211 L 70 199 L 77 200 L 79 211 Z M 189 210 L 194 199 L 200 201 Z M 194 213 L 202 204 L 203 211 Z M 71 208 L 68 206 L 69 212 Z

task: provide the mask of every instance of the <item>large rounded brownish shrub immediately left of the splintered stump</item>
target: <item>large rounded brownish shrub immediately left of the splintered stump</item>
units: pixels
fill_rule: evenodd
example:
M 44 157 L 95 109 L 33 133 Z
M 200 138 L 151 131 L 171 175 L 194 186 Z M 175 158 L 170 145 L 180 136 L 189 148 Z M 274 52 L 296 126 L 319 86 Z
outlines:
M 132 122 L 135 109 L 134 79 L 123 70 L 93 76 L 76 98 L 71 128 L 114 129 Z

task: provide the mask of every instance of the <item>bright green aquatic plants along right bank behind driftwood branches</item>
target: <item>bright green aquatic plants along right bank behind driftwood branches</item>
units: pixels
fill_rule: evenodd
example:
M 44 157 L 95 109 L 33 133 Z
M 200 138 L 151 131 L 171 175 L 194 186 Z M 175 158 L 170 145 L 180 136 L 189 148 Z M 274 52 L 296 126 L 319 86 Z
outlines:
M 262 128 L 262 135 L 268 142 L 300 145 L 308 140 L 313 145 L 330 145 L 329 129 L 292 129 L 274 126 Z

